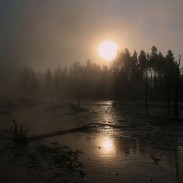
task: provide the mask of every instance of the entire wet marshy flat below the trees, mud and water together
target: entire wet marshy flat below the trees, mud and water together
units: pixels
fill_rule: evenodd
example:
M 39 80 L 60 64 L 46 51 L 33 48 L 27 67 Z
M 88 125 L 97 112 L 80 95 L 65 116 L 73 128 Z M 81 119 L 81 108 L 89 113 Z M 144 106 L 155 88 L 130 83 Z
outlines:
M 0 176 L 4 182 L 183 182 L 183 124 L 157 118 L 164 109 L 151 112 L 144 117 L 142 107 L 113 101 L 81 109 L 17 102 L 1 114 L 1 134 L 14 118 L 30 142 L 19 147 L 0 137 Z

